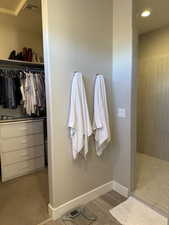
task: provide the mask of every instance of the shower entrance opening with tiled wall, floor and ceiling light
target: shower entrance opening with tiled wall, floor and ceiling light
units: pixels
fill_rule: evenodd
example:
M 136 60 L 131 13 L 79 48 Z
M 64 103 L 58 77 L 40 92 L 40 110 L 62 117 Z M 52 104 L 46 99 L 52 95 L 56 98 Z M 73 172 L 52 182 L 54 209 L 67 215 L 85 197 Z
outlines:
M 167 0 L 137 1 L 137 168 L 134 196 L 166 215 L 169 210 L 168 11 Z

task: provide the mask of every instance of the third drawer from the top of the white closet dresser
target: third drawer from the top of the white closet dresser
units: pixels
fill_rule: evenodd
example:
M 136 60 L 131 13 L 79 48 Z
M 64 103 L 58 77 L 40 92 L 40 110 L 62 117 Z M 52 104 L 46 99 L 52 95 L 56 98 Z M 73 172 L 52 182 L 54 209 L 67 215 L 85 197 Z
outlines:
M 1 164 L 2 166 L 7 166 L 16 162 L 22 162 L 40 156 L 44 156 L 44 145 L 12 152 L 2 152 Z

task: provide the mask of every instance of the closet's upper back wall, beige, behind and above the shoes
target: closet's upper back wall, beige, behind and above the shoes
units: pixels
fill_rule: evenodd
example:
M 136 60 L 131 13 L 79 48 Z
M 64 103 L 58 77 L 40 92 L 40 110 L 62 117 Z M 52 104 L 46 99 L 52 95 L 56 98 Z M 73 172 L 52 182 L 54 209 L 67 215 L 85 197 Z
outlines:
M 0 59 L 8 59 L 12 50 L 34 49 L 43 56 L 42 25 L 34 20 L 36 13 L 22 12 L 19 16 L 0 14 Z M 39 23 L 39 24 L 38 24 Z

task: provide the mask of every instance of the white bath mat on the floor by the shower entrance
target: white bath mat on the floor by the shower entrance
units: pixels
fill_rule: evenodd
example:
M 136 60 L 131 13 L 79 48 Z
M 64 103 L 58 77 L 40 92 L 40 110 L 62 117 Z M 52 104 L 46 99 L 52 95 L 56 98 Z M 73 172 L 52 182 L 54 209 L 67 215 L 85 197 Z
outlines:
M 122 225 L 167 225 L 166 217 L 158 214 L 142 202 L 130 197 L 110 210 L 110 213 Z

